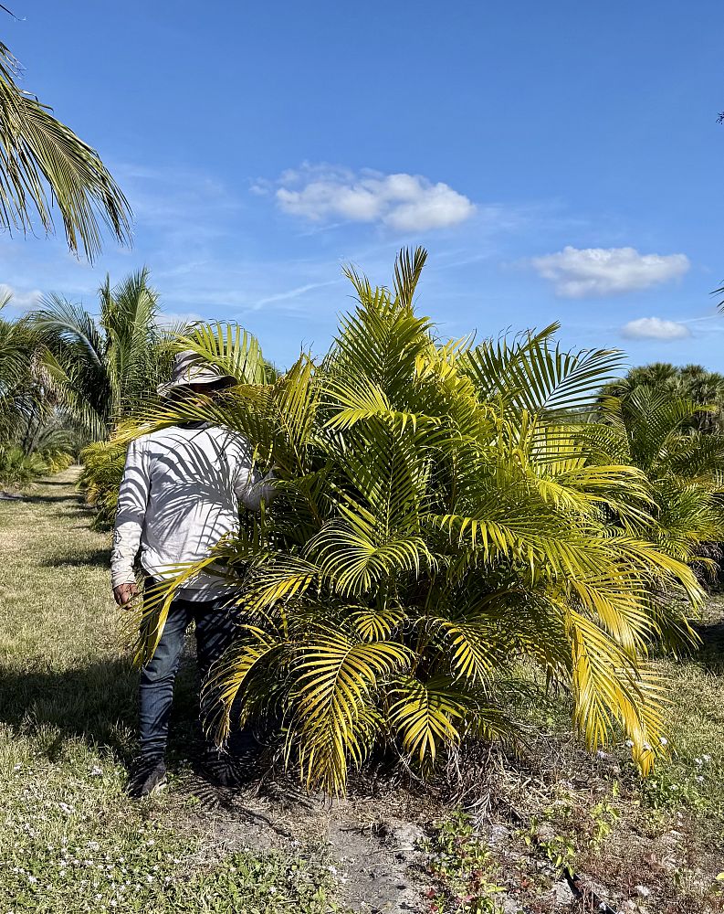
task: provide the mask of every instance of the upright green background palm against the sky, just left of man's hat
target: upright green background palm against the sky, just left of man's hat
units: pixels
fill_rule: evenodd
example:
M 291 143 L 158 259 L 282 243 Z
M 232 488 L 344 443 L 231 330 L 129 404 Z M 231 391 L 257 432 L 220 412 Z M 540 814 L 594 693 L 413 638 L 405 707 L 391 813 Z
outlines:
M 44 365 L 65 409 L 91 439 L 107 437 L 141 409 L 165 377 L 167 337 L 156 323 L 157 294 L 142 270 L 117 286 L 100 287 L 98 320 L 82 306 L 50 295 L 30 314 L 47 347 Z

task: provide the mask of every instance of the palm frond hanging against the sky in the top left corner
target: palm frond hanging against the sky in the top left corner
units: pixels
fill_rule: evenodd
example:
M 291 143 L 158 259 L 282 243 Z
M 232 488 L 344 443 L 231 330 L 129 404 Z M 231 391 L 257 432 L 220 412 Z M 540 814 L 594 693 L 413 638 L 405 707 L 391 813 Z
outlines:
M 100 222 L 130 237 L 128 201 L 98 153 L 16 83 L 17 63 L 0 42 L 0 226 L 53 228 L 60 211 L 70 250 L 100 251 Z

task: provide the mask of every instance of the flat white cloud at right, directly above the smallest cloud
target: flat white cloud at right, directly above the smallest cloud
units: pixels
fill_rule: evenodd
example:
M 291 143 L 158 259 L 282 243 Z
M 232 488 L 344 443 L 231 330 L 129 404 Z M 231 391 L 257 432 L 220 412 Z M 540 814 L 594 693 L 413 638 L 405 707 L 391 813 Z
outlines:
M 689 268 L 686 254 L 639 254 L 635 248 L 566 247 L 531 260 L 543 279 L 566 298 L 647 289 L 676 279 Z

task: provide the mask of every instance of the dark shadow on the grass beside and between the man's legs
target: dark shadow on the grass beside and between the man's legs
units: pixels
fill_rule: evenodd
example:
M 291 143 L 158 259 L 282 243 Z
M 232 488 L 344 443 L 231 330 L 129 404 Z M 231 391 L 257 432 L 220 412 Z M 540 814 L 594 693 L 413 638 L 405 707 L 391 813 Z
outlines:
M 37 741 L 51 761 L 78 740 L 106 749 L 124 764 L 137 752 L 138 671 L 126 661 L 53 671 L 0 669 L 0 722 Z M 182 664 L 176 679 L 170 754 L 188 758 L 197 737 L 195 664 Z

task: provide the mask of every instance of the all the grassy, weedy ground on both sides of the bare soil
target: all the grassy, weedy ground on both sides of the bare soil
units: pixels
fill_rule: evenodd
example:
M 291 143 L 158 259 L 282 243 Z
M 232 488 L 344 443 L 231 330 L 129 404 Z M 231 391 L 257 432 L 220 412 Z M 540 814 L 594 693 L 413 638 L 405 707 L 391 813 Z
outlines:
M 186 780 L 189 667 L 174 702 L 170 789 L 126 798 L 137 675 L 110 597 L 109 537 L 90 529 L 73 478 L 0 503 L 0 914 L 339 909 L 335 861 L 319 844 L 260 852 L 238 840 L 242 824 L 232 823 L 235 841 L 219 841 L 200 814 Z M 670 684 L 672 754 L 647 781 L 623 741 L 583 751 L 565 702 L 521 706 L 531 739 L 519 758 L 484 753 L 479 778 L 469 774 L 492 785 L 498 836 L 440 808 L 421 864 L 424 908 L 488 914 L 505 898 L 508 910 L 554 911 L 551 892 L 571 866 L 620 912 L 724 910 L 723 617 L 724 600 L 710 600 L 698 654 L 656 661 Z M 363 893 L 370 877 L 358 876 Z

